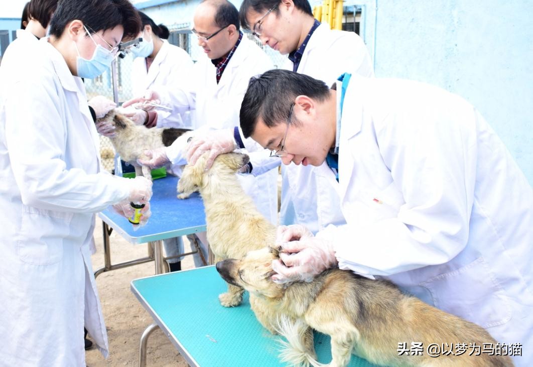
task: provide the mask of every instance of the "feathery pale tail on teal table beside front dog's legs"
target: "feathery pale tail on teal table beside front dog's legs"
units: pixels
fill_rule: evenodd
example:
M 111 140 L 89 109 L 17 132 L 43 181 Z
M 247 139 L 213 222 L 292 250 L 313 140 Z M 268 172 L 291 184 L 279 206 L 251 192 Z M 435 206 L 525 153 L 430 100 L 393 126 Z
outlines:
M 281 346 L 279 357 L 281 362 L 293 366 L 321 367 L 325 366 L 315 358 L 314 350 L 309 350 L 304 344 L 304 334 L 308 332 L 309 325 L 302 320 L 292 321 L 285 316 L 278 318 L 276 332 L 287 340 L 278 339 Z

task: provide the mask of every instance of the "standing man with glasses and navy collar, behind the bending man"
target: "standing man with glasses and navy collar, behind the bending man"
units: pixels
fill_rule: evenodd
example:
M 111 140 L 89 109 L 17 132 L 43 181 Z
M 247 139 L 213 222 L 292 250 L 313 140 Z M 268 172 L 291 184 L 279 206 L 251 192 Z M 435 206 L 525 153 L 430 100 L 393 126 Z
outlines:
M 328 85 L 342 73 L 374 76 L 372 59 L 361 37 L 332 30 L 314 19 L 308 0 L 244 0 L 239 18 L 243 28 L 251 30 L 263 45 L 288 56 L 284 69 L 310 75 Z M 233 135 L 238 135 L 238 131 L 221 132 L 215 149 L 211 146 L 213 137 L 193 141 L 188 153 L 190 163 L 208 149 L 212 149 L 213 156 L 222 153 L 217 148 L 229 147 Z M 248 142 L 244 140 L 243 146 Z M 259 168 L 254 165 L 254 169 Z M 326 164 L 283 166 L 280 224 L 303 224 L 315 233 L 329 224 L 345 223 L 341 211 L 332 210 L 340 209 L 337 186 Z

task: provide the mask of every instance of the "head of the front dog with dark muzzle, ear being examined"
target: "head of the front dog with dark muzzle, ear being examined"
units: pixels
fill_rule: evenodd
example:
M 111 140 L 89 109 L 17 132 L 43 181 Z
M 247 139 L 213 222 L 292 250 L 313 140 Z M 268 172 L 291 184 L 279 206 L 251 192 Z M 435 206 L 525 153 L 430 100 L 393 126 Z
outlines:
M 265 247 L 250 251 L 243 259 L 226 259 L 216 263 L 216 270 L 222 278 L 233 285 L 240 286 L 256 296 L 279 298 L 285 286 L 274 283 L 271 276 L 272 260 L 278 259 L 276 249 Z

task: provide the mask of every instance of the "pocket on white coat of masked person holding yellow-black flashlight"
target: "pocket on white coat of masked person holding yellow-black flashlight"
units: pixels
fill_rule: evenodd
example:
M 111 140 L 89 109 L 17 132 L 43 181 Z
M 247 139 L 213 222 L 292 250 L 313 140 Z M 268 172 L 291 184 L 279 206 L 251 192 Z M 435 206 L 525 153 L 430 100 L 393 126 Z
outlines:
M 63 241 L 70 233 L 72 213 L 25 206 L 18 241 L 19 258 L 33 265 L 52 265 L 63 258 Z

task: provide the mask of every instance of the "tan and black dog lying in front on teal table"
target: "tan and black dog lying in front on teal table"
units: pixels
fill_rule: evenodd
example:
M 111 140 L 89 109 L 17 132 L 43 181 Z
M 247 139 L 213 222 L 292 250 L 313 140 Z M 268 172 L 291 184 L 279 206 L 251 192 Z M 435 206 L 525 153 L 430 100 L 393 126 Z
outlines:
M 216 264 L 224 280 L 250 292 L 257 319 L 271 332 L 284 335 L 292 350 L 285 350 L 293 364 L 314 364 L 312 329 L 331 337 L 333 360 L 345 366 L 350 355 L 387 366 L 512 366 L 508 356 L 469 354 L 470 344 L 496 345 L 480 326 L 450 315 L 403 294 L 391 282 L 369 280 L 340 269 L 326 270 L 310 283 L 288 285 L 271 280 L 272 260 L 277 249 L 249 252 L 241 260 L 227 259 Z M 253 296 L 253 297 L 252 297 Z M 285 320 L 280 323 L 281 320 Z M 422 342 L 422 355 L 398 355 L 399 343 Z M 462 355 L 427 354 L 427 346 L 466 344 Z M 448 349 L 449 350 L 449 349 Z M 455 349 L 454 349 L 455 350 Z

